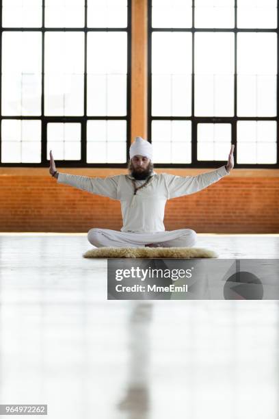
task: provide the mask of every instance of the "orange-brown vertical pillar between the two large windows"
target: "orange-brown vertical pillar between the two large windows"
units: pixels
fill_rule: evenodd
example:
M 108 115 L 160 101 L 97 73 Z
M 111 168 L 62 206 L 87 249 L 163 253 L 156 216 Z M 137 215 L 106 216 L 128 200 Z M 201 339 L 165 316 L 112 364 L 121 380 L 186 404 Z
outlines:
M 131 142 L 147 139 L 148 0 L 131 0 Z

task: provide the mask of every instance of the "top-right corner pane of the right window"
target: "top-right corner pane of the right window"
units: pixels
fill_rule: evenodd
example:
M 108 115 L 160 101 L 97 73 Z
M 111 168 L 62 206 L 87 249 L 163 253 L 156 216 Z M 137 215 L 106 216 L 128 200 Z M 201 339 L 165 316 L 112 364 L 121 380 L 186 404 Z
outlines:
M 237 0 L 237 27 L 276 28 L 277 0 Z

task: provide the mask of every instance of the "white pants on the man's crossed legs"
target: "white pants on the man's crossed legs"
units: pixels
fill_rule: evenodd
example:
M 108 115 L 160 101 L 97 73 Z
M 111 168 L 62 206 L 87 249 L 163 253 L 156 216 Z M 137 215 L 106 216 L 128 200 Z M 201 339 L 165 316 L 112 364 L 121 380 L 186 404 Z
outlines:
M 132 233 L 110 229 L 90 229 L 88 241 L 96 247 L 191 247 L 196 244 L 197 233 L 191 229 Z

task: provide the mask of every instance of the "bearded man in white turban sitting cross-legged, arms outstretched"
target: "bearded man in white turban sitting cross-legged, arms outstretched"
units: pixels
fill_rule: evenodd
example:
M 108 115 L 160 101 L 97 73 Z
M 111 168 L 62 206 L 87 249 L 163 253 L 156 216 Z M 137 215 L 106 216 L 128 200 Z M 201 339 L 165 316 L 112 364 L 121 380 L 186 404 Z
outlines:
M 127 175 L 100 178 L 58 173 L 52 151 L 49 172 L 57 183 L 120 201 L 122 229 L 90 229 L 88 240 L 94 246 L 189 247 L 196 244 L 196 231 L 188 228 L 165 231 L 165 203 L 168 199 L 194 194 L 228 175 L 234 166 L 234 147 L 231 146 L 226 166 L 196 176 L 156 173 L 152 164 L 152 145 L 141 137 L 136 137 L 131 144 Z

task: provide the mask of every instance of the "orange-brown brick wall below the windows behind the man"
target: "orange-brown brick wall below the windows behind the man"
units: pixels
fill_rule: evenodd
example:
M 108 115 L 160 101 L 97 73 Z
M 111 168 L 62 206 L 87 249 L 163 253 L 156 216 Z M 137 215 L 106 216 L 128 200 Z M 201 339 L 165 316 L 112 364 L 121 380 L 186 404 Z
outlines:
M 155 169 L 187 176 L 213 169 Z M 109 176 L 120 169 L 63 169 Z M 165 229 L 198 233 L 278 233 L 279 170 L 234 169 L 208 188 L 168 201 Z M 0 231 L 86 232 L 122 227 L 120 203 L 57 183 L 47 168 L 0 168 Z

